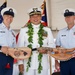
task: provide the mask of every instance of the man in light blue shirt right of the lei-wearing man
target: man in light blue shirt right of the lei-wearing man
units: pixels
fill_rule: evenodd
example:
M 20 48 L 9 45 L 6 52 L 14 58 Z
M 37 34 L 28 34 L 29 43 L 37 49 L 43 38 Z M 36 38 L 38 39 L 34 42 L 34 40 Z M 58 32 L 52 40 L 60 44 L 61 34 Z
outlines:
M 64 17 L 67 27 L 61 29 L 56 38 L 56 46 L 63 48 L 75 48 L 75 10 L 67 8 L 64 10 Z M 75 55 L 73 55 L 75 56 Z M 75 75 L 75 58 L 67 61 L 56 60 L 56 69 L 60 68 L 60 75 Z

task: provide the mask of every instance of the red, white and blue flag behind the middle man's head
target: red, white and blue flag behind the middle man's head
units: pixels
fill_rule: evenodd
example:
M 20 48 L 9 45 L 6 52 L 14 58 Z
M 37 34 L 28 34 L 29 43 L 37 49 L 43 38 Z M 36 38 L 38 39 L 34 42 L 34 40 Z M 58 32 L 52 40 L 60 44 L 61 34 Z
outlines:
M 43 4 L 41 5 L 41 9 L 43 10 L 42 12 L 42 24 L 44 26 L 47 26 L 47 13 L 46 13 L 46 1 L 43 2 Z

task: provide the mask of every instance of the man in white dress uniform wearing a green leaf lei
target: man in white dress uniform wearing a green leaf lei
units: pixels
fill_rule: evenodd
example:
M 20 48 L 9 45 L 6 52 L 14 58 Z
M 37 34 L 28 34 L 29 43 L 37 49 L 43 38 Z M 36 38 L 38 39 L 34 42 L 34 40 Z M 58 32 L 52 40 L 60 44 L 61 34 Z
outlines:
M 18 61 L 19 70 L 24 75 L 48 75 L 49 61 L 46 51 L 38 52 L 38 47 L 55 47 L 50 28 L 41 23 L 41 8 L 28 11 L 30 23 L 20 30 L 18 47 L 29 47 L 32 55 L 29 59 Z

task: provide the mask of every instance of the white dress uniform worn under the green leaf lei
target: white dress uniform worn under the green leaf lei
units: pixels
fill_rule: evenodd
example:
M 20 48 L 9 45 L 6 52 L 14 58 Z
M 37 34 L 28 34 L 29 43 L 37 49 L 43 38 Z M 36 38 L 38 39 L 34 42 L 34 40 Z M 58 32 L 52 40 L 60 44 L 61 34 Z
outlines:
M 32 24 L 32 26 L 33 26 L 33 30 L 34 30 L 32 48 L 37 48 L 37 47 L 40 47 L 38 44 L 38 34 L 37 34 L 40 24 L 39 25 Z M 52 35 L 50 28 L 44 27 L 44 30 L 47 32 L 48 36 L 43 37 L 44 40 L 43 40 L 42 46 L 54 48 L 55 44 L 54 44 L 54 39 L 53 39 L 53 35 Z M 27 47 L 29 45 L 27 31 L 28 31 L 28 27 L 22 28 L 20 30 L 20 34 L 19 34 L 19 38 L 18 38 L 18 47 Z M 18 62 L 18 64 L 24 64 L 24 75 L 34 75 L 34 73 L 30 72 L 30 70 L 31 69 L 33 69 L 33 70 L 38 69 L 38 54 L 39 53 L 37 53 L 37 51 L 33 51 L 32 59 L 31 59 L 31 67 L 29 68 L 28 72 L 25 72 L 28 59 L 25 59 L 24 61 Z M 47 54 L 43 54 L 42 66 L 43 66 L 42 73 L 41 74 L 36 73 L 35 75 L 48 75 L 49 61 L 48 61 Z

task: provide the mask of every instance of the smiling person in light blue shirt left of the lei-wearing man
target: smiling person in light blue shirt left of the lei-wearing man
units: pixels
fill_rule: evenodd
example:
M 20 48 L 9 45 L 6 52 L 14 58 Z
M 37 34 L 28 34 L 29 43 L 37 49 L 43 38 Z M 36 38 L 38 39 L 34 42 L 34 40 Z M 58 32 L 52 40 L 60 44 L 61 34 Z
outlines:
M 13 58 L 8 55 L 8 48 L 16 46 L 14 31 L 10 28 L 16 10 L 11 7 L 2 9 L 3 22 L 0 24 L 0 75 L 12 75 Z

